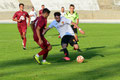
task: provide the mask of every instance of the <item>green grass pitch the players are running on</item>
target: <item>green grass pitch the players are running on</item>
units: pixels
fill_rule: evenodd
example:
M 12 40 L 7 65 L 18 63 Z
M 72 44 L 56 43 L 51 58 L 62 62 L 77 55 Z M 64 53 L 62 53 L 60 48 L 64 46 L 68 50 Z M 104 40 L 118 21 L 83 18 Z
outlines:
M 120 24 L 80 24 L 86 32 L 79 33 L 82 53 L 68 47 L 71 61 L 65 62 L 56 29 L 46 38 L 52 45 L 47 58 L 51 65 L 38 65 L 33 55 L 41 49 L 33 41 L 28 27 L 27 50 L 16 24 L 0 24 L 0 80 L 120 80 Z M 83 55 L 84 63 L 76 57 Z M 42 57 L 41 57 L 42 59 Z

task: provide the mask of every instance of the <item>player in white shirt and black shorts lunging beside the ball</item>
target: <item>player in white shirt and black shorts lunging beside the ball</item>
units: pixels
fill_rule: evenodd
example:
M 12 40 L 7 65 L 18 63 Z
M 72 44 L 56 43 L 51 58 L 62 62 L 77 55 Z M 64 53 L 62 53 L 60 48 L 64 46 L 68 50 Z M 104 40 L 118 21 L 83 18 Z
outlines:
M 62 38 L 61 40 L 61 46 L 63 48 L 65 57 L 65 60 L 70 60 L 69 58 L 69 53 L 67 50 L 67 46 L 68 43 L 74 47 L 75 50 L 79 49 L 79 46 L 77 44 L 77 41 L 74 38 L 74 32 L 71 28 L 71 24 L 74 25 L 74 27 L 78 28 L 79 31 L 84 34 L 84 31 L 82 31 L 79 26 L 77 26 L 77 24 L 75 24 L 74 22 L 72 22 L 71 20 L 65 18 L 65 17 L 60 17 L 60 12 L 55 12 L 54 13 L 54 18 L 55 20 L 49 25 L 48 28 L 45 29 L 45 31 L 43 32 L 43 34 L 45 34 L 48 30 L 50 30 L 51 28 L 55 27 L 58 32 L 60 33 L 60 36 Z

